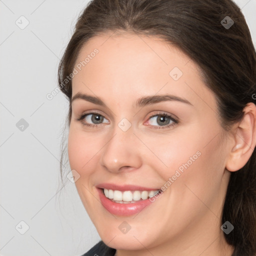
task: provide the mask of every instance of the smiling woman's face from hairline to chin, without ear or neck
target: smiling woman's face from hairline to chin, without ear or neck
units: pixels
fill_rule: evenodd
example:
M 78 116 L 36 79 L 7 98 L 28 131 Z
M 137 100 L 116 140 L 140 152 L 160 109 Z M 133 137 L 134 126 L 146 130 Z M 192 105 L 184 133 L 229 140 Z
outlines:
M 229 172 L 214 94 L 175 46 L 110 35 L 83 46 L 72 78 L 68 157 L 89 217 L 117 249 L 215 237 Z

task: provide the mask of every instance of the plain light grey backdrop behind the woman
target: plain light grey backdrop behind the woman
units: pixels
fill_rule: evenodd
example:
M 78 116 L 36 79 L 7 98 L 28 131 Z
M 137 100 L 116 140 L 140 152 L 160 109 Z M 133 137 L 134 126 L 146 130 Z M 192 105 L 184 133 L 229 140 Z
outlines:
M 46 98 L 87 2 L 0 0 L 0 255 L 80 256 L 100 239 L 74 183 L 60 182 L 68 102 L 61 92 Z M 256 45 L 256 0 L 235 2 Z M 28 123 L 23 131 L 16 126 L 21 118 Z M 24 234 L 21 220 L 29 226 Z

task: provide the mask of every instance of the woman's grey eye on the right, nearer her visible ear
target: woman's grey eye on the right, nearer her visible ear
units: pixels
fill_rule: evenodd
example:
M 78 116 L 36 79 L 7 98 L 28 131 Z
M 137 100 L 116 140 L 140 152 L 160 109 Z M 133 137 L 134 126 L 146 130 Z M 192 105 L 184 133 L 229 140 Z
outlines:
M 169 114 L 166 114 L 164 112 L 159 112 L 152 115 L 151 117 L 149 117 L 149 120 L 147 122 L 149 121 L 151 121 L 151 124 L 149 123 L 149 125 L 155 129 L 167 128 L 178 123 L 177 119 L 171 117 Z M 162 127 L 159 127 L 159 126 L 162 126 Z

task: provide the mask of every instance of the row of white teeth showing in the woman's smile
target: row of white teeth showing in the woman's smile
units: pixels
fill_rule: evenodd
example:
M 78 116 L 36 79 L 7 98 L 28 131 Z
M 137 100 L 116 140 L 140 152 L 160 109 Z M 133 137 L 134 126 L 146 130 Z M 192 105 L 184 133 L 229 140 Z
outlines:
M 152 197 L 157 194 L 160 190 L 151 190 L 151 191 L 119 191 L 104 188 L 104 194 L 107 198 L 112 199 L 118 203 L 128 203 L 135 202 L 140 199 L 145 200 L 148 197 Z

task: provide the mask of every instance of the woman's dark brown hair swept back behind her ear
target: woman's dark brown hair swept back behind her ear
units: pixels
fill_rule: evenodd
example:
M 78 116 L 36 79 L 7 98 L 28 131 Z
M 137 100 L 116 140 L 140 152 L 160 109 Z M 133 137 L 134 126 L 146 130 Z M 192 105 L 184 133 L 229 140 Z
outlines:
M 229 29 L 220 23 L 225 16 L 234 21 Z M 58 68 L 58 84 L 69 102 L 72 80 L 63 81 L 72 73 L 79 50 L 89 38 L 114 31 L 157 36 L 195 61 L 206 86 L 215 94 L 224 130 L 242 118 L 248 102 L 255 103 L 255 48 L 244 16 L 231 0 L 90 1 L 76 22 Z M 71 104 L 68 125 L 70 118 Z M 255 149 L 240 170 L 231 172 L 222 223 L 226 220 L 234 226 L 225 234 L 235 247 L 232 256 L 256 255 Z

